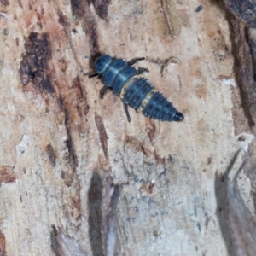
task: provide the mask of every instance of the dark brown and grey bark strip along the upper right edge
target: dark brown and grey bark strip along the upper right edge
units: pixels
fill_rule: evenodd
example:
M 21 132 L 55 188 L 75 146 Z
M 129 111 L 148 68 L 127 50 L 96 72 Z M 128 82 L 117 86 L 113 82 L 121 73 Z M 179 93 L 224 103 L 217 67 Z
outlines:
M 224 0 L 230 11 L 230 25 L 235 36 L 233 54 L 238 67 L 238 84 L 241 90 L 241 102 L 250 128 L 255 132 L 256 124 L 256 6 L 252 1 Z M 236 19 L 233 17 L 235 16 Z

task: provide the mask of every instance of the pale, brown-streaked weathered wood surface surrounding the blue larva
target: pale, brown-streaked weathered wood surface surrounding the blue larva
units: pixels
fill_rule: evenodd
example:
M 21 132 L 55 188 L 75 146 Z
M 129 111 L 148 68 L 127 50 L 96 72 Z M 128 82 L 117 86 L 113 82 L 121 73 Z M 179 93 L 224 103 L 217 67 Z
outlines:
M 1 255 L 54 255 L 52 225 L 88 255 L 102 255 L 108 174 L 120 185 L 118 255 L 228 255 L 219 177 L 241 148 L 236 170 L 254 136 L 224 6 L 92 2 L 96 9 L 0 1 Z M 131 108 L 128 123 L 118 97 L 100 100 L 101 80 L 87 77 L 99 53 L 144 56 L 145 76 L 183 123 Z M 253 209 L 247 177 L 240 183 Z

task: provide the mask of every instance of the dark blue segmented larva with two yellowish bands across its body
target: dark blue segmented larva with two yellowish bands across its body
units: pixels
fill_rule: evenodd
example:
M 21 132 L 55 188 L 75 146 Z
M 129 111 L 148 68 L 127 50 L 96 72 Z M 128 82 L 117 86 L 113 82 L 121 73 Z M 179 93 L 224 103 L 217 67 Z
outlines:
M 119 59 L 114 59 L 109 55 L 102 55 L 96 59 L 96 73 L 89 77 L 102 75 L 105 87 L 102 90 L 102 97 L 109 90 L 123 99 L 125 113 L 130 122 L 131 118 L 128 113 L 128 104 L 132 108 L 141 111 L 145 116 L 162 121 L 183 121 L 182 113 L 177 112 L 176 108 L 168 102 L 164 96 L 154 89 L 153 85 L 144 79 L 142 73 L 146 69 L 138 72 L 134 67 L 131 67 L 137 61 L 142 61 L 144 58 L 126 62 Z

